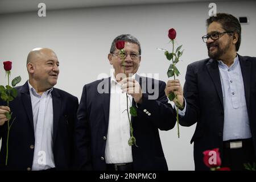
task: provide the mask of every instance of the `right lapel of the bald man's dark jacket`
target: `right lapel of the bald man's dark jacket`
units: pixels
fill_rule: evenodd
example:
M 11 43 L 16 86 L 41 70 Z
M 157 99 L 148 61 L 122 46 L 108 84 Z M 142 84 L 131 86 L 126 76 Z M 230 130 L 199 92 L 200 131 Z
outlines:
M 57 129 L 59 126 L 59 118 L 61 111 L 61 97 L 55 88 L 52 90 L 52 107 L 53 107 L 53 143 L 55 142 Z

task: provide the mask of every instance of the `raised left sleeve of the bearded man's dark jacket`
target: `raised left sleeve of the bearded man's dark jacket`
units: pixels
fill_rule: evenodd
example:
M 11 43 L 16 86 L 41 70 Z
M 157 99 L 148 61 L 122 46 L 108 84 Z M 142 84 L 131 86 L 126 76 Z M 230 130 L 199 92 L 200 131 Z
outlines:
M 188 65 L 184 84 L 184 98 L 187 102 L 184 117 L 180 117 L 181 126 L 192 126 L 199 119 L 199 91 L 197 78 L 192 65 Z

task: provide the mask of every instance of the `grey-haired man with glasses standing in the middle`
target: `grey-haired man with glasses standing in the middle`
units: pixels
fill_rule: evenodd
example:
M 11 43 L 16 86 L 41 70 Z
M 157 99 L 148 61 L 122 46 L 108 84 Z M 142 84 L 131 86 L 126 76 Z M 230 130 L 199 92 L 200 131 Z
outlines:
M 125 56 L 115 47 L 119 40 L 125 42 Z M 113 75 L 86 84 L 82 91 L 76 124 L 77 169 L 168 170 L 158 130 L 172 129 L 176 119 L 164 93 L 166 84 L 136 74 L 141 44 L 132 35 L 117 36 L 108 59 Z M 130 115 L 137 146 L 128 144 L 127 105 L 137 108 L 137 116 Z

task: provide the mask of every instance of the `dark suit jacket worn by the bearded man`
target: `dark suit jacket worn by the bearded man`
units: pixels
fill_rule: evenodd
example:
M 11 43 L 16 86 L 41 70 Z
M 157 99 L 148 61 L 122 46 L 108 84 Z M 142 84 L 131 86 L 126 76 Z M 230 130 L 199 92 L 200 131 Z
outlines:
M 245 88 L 250 130 L 256 147 L 256 57 L 239 56 Z M 223 150 L 224 105 L 218 63 L 205 59 L 189 64 L 185 76 L 184 97 L 187 101 L 185 116 L 180 125 L 197 123 L 194 142 L 196 170 L 209 170 L 203 163 L 203 151 L 213 148 Z M 255 148 L 256 149 L 256 148 Z M 255 150 L 256 151 L 256 150 Z

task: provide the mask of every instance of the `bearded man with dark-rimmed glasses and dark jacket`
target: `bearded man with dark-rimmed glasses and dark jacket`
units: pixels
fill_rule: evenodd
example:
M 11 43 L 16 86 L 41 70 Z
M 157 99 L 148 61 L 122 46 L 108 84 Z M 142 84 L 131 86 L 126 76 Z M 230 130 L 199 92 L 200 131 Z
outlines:
M 202 38 L 209 58 L 188 65 L 184 98 L 178 80 L 168 81 L 166 94 L 175 92 L 183 106 L 180 125 L 197 123 L 191 139 L 196 170 L 209 169 L 203 151 L 213 148 L 219 148 L 223 167 L 244 170 L 255 162 L 256 58 L 237 54 L 241 25 L 233 15 L 219 13 L 207 25 Z

